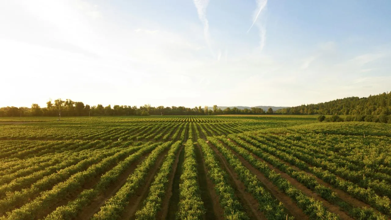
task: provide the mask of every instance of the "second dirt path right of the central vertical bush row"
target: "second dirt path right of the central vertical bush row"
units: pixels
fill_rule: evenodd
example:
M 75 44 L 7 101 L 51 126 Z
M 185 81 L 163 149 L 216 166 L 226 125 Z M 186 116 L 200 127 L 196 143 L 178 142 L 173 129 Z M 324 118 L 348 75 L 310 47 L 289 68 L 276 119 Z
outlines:
M 226 161 L 225 157 L 221 154 L 219 150 L 217 150 L 217 148 L 213 144 L 208 144 L 217 155 L 216 159 L 219 160 L 219 163 L 222 165 L 222 169 L 228 173 L 228 181 L 235 189 L 235 196 L 239 198 L 239 201 L 242 203 L 250 219 L 265 220 L 266 217 L 258 209 L 258 201 L 253 197 L 253 195 L 246 191 L 246 186 L 244 186 L 244 183 L 239 180 L 239 177 L 235 173 L 233 168 L 228 165 L 228 162 Z

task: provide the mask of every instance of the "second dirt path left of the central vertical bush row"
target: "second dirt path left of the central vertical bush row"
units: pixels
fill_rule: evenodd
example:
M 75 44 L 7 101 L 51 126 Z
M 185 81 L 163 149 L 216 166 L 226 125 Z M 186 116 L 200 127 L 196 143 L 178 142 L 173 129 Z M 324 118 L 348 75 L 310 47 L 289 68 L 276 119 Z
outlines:
M 148 196 L 152 181 L 154 180 L 156 173 L 158 173 L 161 164 L 163 164 L 163 161 L 166 158 L 165 155 L 167 155 L 168 151 L 169 148 L 160 153 L 159 157 L 155 161 L 154 166 L 148 171 L 147 179 L 143 183 L 143 186 L 138 188 L 135 195 L 129 198 L 129 203 L 125 208 L 122 219 L 135 219 L 135 213 L 143 206 L 143 201 Z

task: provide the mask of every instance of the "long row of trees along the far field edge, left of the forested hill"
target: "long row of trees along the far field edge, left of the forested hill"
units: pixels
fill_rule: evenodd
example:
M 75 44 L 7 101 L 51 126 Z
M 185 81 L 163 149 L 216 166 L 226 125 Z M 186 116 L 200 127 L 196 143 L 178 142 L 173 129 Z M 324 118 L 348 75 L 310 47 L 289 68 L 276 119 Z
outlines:
M 56 99 L 49 100 L 46 107 L 40 107 L 33 103 L 28 107 L 7 106 L 0 108 L 0 117 L 19 117 L 19 116 L 110 116 L 110 115 L 223 115 L 223 114 L 273 114 L 273 110 L 269 108 L 266 112 L 262 108 L 252 107 L 250 109 L 226 108 L 222 110 L 214 105 L 212 109 L 208 106 L 202 108 L 195 106 L 194 108 L 186 108 L 184 106 L 157 106 L 151 105 L 128 106 L 128 105 L 84 105 L 83 102 L 75 102 L 71 99 Z

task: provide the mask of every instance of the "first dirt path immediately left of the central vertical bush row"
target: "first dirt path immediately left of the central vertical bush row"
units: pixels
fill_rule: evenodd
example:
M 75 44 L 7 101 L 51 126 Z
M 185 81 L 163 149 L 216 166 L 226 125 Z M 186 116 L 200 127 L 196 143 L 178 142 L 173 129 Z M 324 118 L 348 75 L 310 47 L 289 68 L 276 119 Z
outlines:
M 172 168 L 169 184 L 167 187 L 167 193 L 163 198 L 163 207 L 158 212 L 156 219 L 160 220 L 172 220 L 175 219 L 175 214 L 178 211 L 179 203 L 179 182 L 182 173 L 182 165 L 185 160 L 185 150 L 183 145 L 179 150 L 178 156 L 175 160 L 174 167 Z

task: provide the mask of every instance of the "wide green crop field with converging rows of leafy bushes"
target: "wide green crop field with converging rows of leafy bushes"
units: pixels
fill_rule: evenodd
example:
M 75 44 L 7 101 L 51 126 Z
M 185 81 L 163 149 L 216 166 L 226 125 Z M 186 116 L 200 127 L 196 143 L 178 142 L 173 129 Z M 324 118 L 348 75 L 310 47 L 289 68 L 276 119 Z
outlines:
M 391 218 L 391 124 L 0 118 L 0 220 Z

